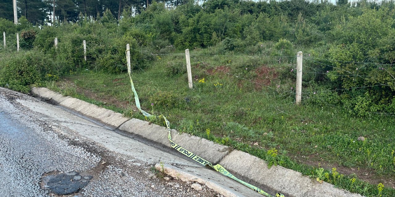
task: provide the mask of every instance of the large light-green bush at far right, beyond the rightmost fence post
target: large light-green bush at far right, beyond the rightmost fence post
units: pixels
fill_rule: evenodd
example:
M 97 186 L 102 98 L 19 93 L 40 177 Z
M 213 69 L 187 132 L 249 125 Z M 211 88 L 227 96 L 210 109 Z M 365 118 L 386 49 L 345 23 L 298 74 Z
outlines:
M 391 28 L 394 19 L 389 12 L 363 9 L 361 15 L 333 28 L 331 35 L 337 39 L 324 56 L 335 61 L 316 65 L 317 69 L 324 67 L 322 72 L 327 73 L 332 87 L 344 89 L 337 91 L 343 94 L 342 104 L 358 116 L 384 112 L 393 102 L 393 66 L 377 64 L 391 64 L 395 59 L 395 29 Z

